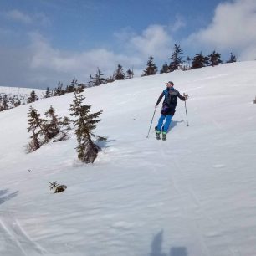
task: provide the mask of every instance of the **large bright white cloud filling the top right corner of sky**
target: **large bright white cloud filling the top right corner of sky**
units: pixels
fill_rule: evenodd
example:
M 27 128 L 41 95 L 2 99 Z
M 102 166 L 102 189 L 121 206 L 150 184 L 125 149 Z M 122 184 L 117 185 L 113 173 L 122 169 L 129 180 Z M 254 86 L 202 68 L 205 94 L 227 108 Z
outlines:
M 246 56 L 246 59 L 254 59 L 253 52 L 252 56 L 249 52 L 256 47 L 255 24 L 255 0 L 221 3 L 215 10 L 212 23 L 207 28 L 193 33 L 188 38 L 187 44 L 238 51 L 239 57 Z

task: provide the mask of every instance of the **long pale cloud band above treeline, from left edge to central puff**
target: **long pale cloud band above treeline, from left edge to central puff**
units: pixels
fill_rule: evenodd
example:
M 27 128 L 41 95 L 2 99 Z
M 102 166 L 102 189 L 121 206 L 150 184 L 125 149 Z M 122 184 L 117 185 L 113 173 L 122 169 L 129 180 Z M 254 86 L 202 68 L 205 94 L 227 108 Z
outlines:
M 122 54 L 107 49 L 64 51 L 54 48 L 40 33 L 29 33 L 30 43 L 26 48 L 19 49 L 26 59 L 13 53 L 13 58 L 6 60 L 9 66 L 13 65 L 16 74 L 13 77 L 13 70 L 7 70 L 6 81 L 9 85 L 16 85 L 20 84 L 19 78 L 22 77 L 23 86 L 46 88 L 54 87 L 58 81 L 67 84 L 75 76 L 79 82 L 86 83 L 90 74 L 94 75 L 98 67 L 108 77 L 113 74 L 117 64 L 121 64 L 125 70 L 133 68 L 136 75 L 141 75 L 141 69 L 146 65 L 149 55 L 166 60 L 166 56 L 172 51 L 172 37 L 166 29 L 159 25 L 150 26 L 141 36 L 134 36 L 129 29 L 124 30 L 120 39 L 126 38 L 130 50 L 124 49 Z M 12 49 L 9 50 L 12 52 Z M 8 57 L 2 54 L 0 58 L 4 63 Z

